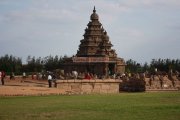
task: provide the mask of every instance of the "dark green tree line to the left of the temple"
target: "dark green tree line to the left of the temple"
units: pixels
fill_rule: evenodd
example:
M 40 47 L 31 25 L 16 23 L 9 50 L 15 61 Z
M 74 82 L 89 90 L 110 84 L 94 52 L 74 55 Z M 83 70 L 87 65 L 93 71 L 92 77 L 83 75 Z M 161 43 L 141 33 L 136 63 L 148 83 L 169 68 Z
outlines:
M 47 56 L 44 58 L 28 56 L 26 64 L 22 63 L 22 59 L 12 55 L 5 55 L 0 57 L 0 71 L 3 70 L 7 74 L 14 72 L 15 74 L 22 74 L 22 72 L 42 72 L 61 69 L 64 59 L 67 56 Z

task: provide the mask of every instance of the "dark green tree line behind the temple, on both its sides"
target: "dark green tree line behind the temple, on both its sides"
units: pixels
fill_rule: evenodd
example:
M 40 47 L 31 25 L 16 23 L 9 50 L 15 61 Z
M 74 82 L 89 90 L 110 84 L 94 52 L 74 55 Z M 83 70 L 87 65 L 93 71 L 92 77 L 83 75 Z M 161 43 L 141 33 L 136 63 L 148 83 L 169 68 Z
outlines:
M 62 69 L 62 64 L 67 56 L 47 56 L 44 58 L 28 56 L 26 64 L 22 64 L 22 59 L 13 55 L 4 55 L 0 57 L 0 70 L 6 73 L 14 72 L 41 72 L 42 70 L 51 71 Z M 126 72 L 153 72 L 157 68 L 159 71 L 169 72 L 170 70 L 180 72 L 180 59 L 152 59 L 150 64 L 147 62 L 140 64 L 132 59 L 126 61 Z

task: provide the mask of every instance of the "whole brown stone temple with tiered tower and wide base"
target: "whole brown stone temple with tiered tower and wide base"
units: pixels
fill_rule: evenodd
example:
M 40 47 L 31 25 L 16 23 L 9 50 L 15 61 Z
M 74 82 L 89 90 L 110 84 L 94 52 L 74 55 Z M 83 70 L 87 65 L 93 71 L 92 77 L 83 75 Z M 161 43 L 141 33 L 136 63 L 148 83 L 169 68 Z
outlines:
M 115 50 L 111 48 L 113 45 L 99 21 L 95 7 L 83 36 L 77 54 L 64 63 L 65 73 L 74 70 L 105 76 L 124 73 L 124 59 L 117 57 Z

